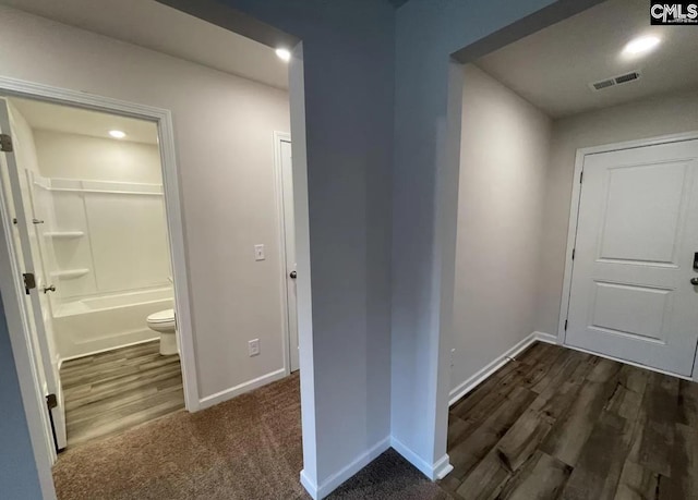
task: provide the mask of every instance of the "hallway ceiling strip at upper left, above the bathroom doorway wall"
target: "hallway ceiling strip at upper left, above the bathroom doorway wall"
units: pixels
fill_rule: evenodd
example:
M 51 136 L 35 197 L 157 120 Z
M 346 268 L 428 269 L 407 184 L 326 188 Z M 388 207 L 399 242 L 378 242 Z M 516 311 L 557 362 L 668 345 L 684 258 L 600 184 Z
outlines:
M 0 0 L 0 3 L 288 88 L 288 66 L 272 48 L 154 0 Z

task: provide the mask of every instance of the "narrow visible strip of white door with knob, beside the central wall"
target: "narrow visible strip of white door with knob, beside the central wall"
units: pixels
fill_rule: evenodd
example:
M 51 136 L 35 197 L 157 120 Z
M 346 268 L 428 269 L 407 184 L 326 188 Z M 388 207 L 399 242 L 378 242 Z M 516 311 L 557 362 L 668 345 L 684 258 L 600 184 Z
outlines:
M 284 237 L 286 246 L 286 289 L 291 371 L 300 367 L 298 352 L 298 309 L 296 295 L 296 219 L 293 215 L 293 169 L 291 142 L 280 142 L 281 184 L 284 198 Z

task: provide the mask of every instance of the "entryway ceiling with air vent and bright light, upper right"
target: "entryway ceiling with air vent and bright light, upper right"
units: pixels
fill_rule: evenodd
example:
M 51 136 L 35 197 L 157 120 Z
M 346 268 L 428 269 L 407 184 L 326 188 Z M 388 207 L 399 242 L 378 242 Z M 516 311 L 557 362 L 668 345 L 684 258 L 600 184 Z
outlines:
M 640 35 L 662 42 L 622 56 Z M 650 26 L 647 0 L 609 0 L 476 62 L 553 118 L 698 87 L 698 27 Z M 588 84 L 634 70 L 640 80 L 592 92 Z

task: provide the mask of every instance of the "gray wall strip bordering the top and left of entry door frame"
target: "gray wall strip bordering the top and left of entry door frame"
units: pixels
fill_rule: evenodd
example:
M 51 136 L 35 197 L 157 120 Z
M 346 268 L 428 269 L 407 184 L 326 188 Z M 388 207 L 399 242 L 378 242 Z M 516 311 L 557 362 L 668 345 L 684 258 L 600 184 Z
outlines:
M 557 334 L 578 148 L 698 131 L 698 92 L 659 96 L 553 124 L 539 263 L 537 330 Z

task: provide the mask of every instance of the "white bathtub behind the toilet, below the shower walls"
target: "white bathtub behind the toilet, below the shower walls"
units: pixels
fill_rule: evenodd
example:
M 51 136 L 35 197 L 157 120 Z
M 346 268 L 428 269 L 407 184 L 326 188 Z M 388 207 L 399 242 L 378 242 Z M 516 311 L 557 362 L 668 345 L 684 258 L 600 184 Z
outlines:
M 157 340 L 145 320 L 173 307 L 171 286 L 65 302 L 53 308 L 53 332 L 61 359 L 86 356 L 135 342 Z

